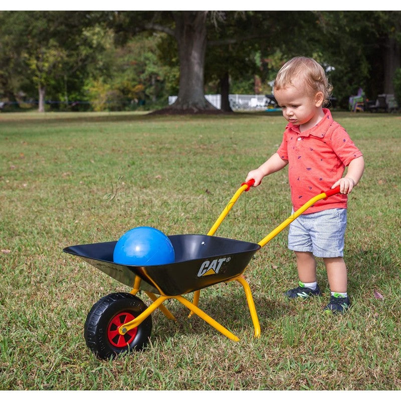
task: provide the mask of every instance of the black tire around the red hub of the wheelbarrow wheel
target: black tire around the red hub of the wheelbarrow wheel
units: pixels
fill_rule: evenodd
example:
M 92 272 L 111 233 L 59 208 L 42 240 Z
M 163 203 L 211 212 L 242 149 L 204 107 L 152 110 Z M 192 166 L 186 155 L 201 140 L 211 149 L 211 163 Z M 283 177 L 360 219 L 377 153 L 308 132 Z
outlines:
M 129 313 L 137 317 L 146 308 L 147 306 L 138 297 L 126 292 L 116 292 L 99 299 L 86 317 L 84 326 L 86 345 L 99 359 L 114 358 L 122 352 L 131 350 L 142 350 L 149 342 L 152 331 L 150 315 L 137 327 L 134 337 L 128 338 L 125 346 L 116 346 L 110 341 L 108 330 L 116 316 Z

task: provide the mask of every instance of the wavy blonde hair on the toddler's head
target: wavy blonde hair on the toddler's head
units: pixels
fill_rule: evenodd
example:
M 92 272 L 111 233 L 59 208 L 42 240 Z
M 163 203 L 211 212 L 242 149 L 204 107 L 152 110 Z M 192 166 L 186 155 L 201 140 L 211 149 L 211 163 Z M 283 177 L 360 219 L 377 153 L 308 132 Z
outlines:
M 302 79 L 312 91 L 312 94 L 317 92 L 323 93 L 323 105 L 327 105 L 331 92 L 332 85 L 329 83 L 323 67 L 314 59 L 309 57 L 294 57 L 287 61 L 281 67 L 274 81 L 274 89 L 279 90 L 293 85 L 295 79 Z

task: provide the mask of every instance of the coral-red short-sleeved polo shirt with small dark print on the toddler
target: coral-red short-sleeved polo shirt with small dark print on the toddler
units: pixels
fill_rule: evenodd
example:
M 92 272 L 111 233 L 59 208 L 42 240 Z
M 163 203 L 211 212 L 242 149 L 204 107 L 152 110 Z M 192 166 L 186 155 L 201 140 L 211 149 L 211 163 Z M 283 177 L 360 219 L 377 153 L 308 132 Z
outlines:
M 289 123 L 277 153 L 288 160 L 288 178 L 294 211 L 311 197 L 326 191 L 340 179 L 351 160 L 362 156 L 345 129 L 331 117 L 330 110 L 314 127 L 300 132 Z M 347 207 L 347 195 L 338 194 L 319 200 L 305 213 Z

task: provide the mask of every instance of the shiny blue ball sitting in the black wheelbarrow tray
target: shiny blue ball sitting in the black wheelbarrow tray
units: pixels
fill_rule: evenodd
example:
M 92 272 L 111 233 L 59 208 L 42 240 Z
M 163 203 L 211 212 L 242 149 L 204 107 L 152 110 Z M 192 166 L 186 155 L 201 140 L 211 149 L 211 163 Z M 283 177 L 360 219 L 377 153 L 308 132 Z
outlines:
M 174 263 L 174 248 L 168 237 L 153 227 L 127 231 L 114 247 L 113 261 L 121 265 L 156 266 Z

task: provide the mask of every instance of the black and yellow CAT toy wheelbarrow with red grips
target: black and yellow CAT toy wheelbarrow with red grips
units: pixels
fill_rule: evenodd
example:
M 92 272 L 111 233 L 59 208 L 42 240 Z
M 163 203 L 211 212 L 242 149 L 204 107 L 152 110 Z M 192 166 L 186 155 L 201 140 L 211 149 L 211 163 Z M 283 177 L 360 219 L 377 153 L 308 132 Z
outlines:
M 190 310 L 188 317 L 196 314 L 228 338 L 239 341 L 236 335 L 197 306 L 201 289 L 229 281 L 237 281 L 243 286 L 255 337 L 260 336 L 260 325 L 251 289 L 242 273 L 260 248 L 318 200 L 327 199 L 340 190 L 336 187 L 314 196 L 258 244 L 213 237 L 241 193 L 248 191 L 254 182 L 252 179 L 241 185 L 207 235 L 185 234 L 168 237 L 174 248 L 174 263 L 158 266 L 114 263 L 113 251 L 116 242 L 76 245 L 63 250 L 132 287 L 130 293 L 112 293 L 101 298 L 87 315 L 84 338 L 89 349 L 98 358 L 113 358 L 121 352 L 143 349 L 151 334 L 150 315 L 154 310 L 159 309 L 168 319 L 175 320 L 163 305 L 164 301 L 171 298 Z M 150 306 L 146 306 L 135 296 L 140 290 L 151 299 Z M 182 296 L 190 292 L 194 293 L 192 302 Z

